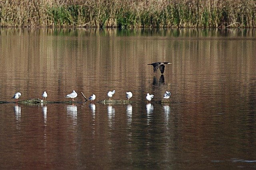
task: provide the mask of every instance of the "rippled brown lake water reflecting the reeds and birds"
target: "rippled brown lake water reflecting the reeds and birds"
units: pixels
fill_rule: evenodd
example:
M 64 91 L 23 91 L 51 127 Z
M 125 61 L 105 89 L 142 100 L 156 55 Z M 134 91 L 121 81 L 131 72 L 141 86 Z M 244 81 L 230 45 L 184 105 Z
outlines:
M 172 63 L 164 76 L 156 61 Z M 254 29 L 2 28 L 0 63 L 0 101 L 133 93 L 0 104 L 1 169 L 256 168 Z

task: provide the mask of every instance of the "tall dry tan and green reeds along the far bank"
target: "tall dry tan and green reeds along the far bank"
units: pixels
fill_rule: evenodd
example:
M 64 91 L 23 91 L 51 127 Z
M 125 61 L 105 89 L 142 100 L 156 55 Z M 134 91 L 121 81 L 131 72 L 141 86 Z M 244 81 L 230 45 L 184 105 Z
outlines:
M 1 0 L 1 27 L 256 27 L 255 0 Z

